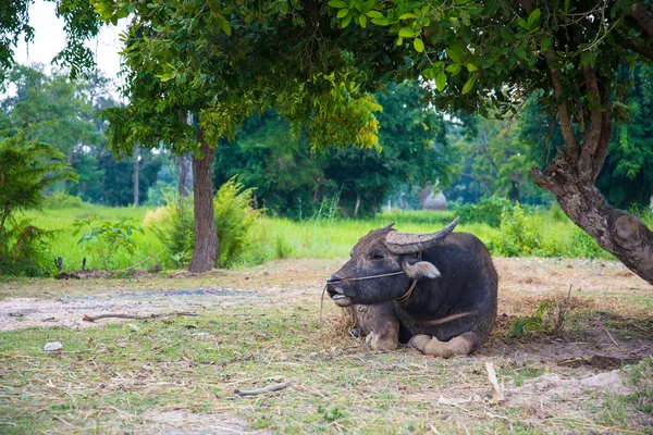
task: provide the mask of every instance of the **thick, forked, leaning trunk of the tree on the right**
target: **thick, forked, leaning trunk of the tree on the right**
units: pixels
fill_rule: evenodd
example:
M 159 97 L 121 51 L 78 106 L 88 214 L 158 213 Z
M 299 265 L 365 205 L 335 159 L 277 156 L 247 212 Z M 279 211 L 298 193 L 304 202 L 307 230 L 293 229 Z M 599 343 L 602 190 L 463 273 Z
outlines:
M 531 0 L 521 0 L 525 11 L 533 11 Z M 601 86 L 596 71 L 582 65 L 583 88 L 592 107 L 577 113 L 580 138 L 574 128 L 568 96 L 563 86 L 556 54 L 550 47 L 544 58 L 558 102 L 560 130 L 565 149 L 544 170 L 531 169 L 534 182 L 554 194 L 565 211 L 599 246 L 614 254 L 632 272 L 653 284 L 653 233 L 637 217 L 611 207 L 594 182 L 605 161 L 612 136 L 612 105 L 608 90 Z M 576 101 L 580 107 L 580 98 Z M 588 119 L 586 119 L 588 116 Z

